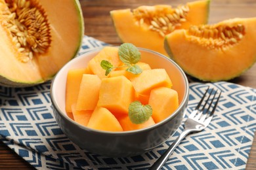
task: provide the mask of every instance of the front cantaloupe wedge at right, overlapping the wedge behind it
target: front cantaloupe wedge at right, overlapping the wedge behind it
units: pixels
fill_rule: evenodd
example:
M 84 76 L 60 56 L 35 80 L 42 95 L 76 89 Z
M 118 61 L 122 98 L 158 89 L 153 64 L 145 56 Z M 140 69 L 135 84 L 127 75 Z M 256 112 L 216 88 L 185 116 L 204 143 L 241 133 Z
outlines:
M 193 25 L 165 38 L 171 59 L 200 80 L 230 80 L 256 61 L 256 18 L 234 18 L 214 25 Z

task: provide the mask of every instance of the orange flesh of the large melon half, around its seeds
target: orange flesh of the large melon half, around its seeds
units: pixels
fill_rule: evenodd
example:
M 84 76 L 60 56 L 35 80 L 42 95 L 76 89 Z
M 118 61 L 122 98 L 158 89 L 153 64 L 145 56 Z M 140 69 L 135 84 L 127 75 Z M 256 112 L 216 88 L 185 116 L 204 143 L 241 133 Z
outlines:
M 0 69 L 0 84 L 3 86 L 32 86 L 53 78 L 65 63 L 74 58 L 81 46 L 83 17 L 79 1 L 49 3 L 40 0 L 39 4 L 49 20 L 51 46 L 45 54 L 37 54 L 27 63 L 18 61 L 22 54 L 0 17 L 0 63 L 5 63 Z

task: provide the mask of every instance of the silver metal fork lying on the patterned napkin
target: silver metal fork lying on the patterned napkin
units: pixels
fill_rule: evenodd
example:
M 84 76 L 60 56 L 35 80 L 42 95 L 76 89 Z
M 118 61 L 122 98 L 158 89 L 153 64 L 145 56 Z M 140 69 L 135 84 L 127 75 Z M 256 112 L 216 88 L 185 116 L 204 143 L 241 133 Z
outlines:
M 175 150 L 178 144 L 181 143 L 182 139 L 184 139 L 184 137 L 186 137 L 188 133 L 202 131 L 205 127 L 209 125 L 211 119 L 213 118 L 213 113 L 215 112 L 217 103 L 219 102 L 219 98 L 221 97 L 221 92 L 217 97 L 217 101 L 215 101 L 215 104 L 213 105 L 213 101 L 216 99 L 215 96 L 218 90 L 215 91 L 213 97 L 211 98 L 211 95 L 213 93 L 213 89 L 211 89 L 211 92 L 209 92 L 209 96 L 207 97 L 204 105 L 202 106 L 202 103 L 208 91 L 209 87 L 203 94 L 203 97 L 196 106 L 196 109 L 194 109 L 194 111 L 186 119 L 186 122 L 184 123 L 184 131 L 182 131 L 181 135 L 179 135 L 179 137 L 171 144 L 171 146 L 169 146 L 169 148 L 160 156 L 160 158 L 158 158 L 158 160 L 152 165 L 152 167 L 150 167 L 150 170 L 161 169 L 161 167 L 168 160 L 169 156 L 171 156 L 171 154 L 173 153 L 173 150 Z M 211 100 L 211 103 L 209 103 L 207 109 L 205 109 L 209 100 Z M 202 107 L 202 109 L 200 109 L 200 107 Z M 211 109 L 211 107 L 213 108 Z

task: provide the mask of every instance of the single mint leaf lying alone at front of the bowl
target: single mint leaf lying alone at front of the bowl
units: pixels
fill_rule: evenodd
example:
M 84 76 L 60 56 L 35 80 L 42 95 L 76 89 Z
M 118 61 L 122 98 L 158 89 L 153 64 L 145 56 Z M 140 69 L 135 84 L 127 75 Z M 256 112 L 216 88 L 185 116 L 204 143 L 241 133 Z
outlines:
M 142 124 L 152 115 L 152 108 L 150 105 L 142 105 L 140 101 L 133 101 L 129 105 L 128 115 L 133 124 Z

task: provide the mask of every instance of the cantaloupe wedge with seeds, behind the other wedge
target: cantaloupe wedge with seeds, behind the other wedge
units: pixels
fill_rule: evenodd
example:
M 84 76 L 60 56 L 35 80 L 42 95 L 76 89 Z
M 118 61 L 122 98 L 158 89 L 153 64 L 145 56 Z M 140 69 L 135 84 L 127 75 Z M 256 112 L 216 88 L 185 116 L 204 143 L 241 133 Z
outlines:
M 110 15 L 121 41 L 167 56 L 163 47 L 164 36 L 191 24 L 207 24 L 209 2 L 194 1 L 177 9 L 169 5 L 142 6 L 133 11 L 112 10 Z

